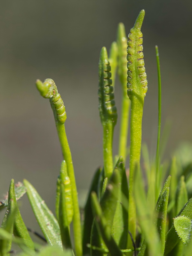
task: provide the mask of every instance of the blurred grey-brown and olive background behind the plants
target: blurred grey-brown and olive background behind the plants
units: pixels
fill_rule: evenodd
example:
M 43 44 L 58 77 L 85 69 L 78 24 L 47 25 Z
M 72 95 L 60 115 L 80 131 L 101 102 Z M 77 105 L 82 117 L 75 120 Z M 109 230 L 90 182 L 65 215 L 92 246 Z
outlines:
M 25 178 L 54 212 L 62 155 L 49 100 L 35 86 L 37 78 L 52 78 L 66 107 L 66 131 L 83 204 L 93 173 L 102 165 L 97 96 L 100 49 L 109 50 L 119 22 L 128 35 L 141 9 L 146 12 L 141 31 L 148 79 L 142 141 L 153 155 L 158 118 L 156 44 L 162 75 L 162 127 L 166 120 L 171 123 L 166 158 L 182 141 L 191 141 L 191 1 L 0 2 L 0 195 L 12 178 L 15 182 Z M 115 100 L 120 113 L 118 81 Z M 117 124 L 114 154 L 118 131 Z M 39 231 L 27 196 L 20 210 L 26 224 Z

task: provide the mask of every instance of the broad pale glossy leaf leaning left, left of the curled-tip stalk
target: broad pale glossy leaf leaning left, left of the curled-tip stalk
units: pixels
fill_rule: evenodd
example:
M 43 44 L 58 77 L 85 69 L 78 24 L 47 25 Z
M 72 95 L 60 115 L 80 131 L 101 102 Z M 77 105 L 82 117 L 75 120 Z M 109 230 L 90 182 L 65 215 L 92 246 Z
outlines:
M 24 180 L 23 183 L 27 188 L 29 202 L 47 242 L 51 245 L 62 247 L 60 228 L 57 220 L 44 203 L 44 200 L 39 196 L 36 189 L 27 180 Z

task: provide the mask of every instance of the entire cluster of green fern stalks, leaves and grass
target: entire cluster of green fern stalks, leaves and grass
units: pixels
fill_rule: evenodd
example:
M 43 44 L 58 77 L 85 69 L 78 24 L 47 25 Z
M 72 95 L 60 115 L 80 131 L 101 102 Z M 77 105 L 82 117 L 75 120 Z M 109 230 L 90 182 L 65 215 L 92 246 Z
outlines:
M 10 255 L 12 243 L 20 246 L 20 256 L 191 255 L 192 163 L 181 162 L 178 154 L 171 164 L 162 162 L 164 135 L 160 137 L 161 76 L 157 46 L 159 119 L 155 160 L 150 162 L 147 146 L 141 147 L 143 105 L 148 89 L 140 30 L 144 15 L 142 10 L 128 38 L 124 25 L 119 24 L 109 58 L 106 48 L 101 49 L 98 95 L 103 126 L 103 167 L 94 174 L 84 207 L 84 220 L 80 218 L 63 100 L 52 79 L 45 79 L 44 83 L 36 81 L 40 94 L 50 100 L 63 154 L 57 178 L 55 215 L 27 180 L 23 181 L 24 185 L 15 187 L 12 179 L 8 197 L 0 202 L 0 209 L 7 207 L 0 229 L 0 255 Z M 119 152 L 114 157 L 116 71 L 122 85 L 122 109 Z M 130 147 L 127 146 L 129 115 Z M 141 154 L 143 164 L 140 167 Z M 130 165 L 126 170 L 128 155 Z M 46 246 L 32 241 L 20 215 L 17 200 L 25 192 Z

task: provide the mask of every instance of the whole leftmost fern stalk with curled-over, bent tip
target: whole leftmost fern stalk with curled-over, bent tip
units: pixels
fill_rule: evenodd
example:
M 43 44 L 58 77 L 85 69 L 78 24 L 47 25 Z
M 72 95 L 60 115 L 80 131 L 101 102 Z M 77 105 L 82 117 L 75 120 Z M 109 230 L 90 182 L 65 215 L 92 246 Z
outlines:
M 72 198 L 73 198 L 73 231 L 74 231 L 74 242 L 75 242 L 75 251 L 76 256 L 82 255 L 82 234 L 81 234 L 81 220 L 80 220 L 80 211 L 77 197 L 76 181 L 75 174 L 72 162 L 71 151 L 69 148 L 67 135 L 65 132 L 64 122 L 67 118 L 65 112 L 65 106 L 60 94 L 58 93 L 57 87 L 52 79 L 45 79 L 44 83 L 40 80 L 36 82 L 37 89 L 44 98 L 50 98 L 50 104 L 53 110 L 55 124 L 60 140 L 61 150 L 63 158 L 67 164 L 67 172 L 69 179 L 71 181 L 72 189 Z

